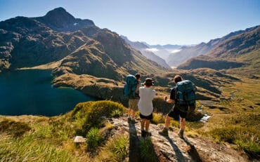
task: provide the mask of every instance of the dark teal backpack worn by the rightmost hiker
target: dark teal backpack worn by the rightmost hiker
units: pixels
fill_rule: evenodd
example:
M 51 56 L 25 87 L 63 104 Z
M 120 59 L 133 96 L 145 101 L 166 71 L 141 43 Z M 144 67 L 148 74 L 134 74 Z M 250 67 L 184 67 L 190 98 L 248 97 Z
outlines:
M 182 112 L 194 110 L 196 107 L 195 89 L 189 80 L 179 81 L 176 87 L 176 104 Z

